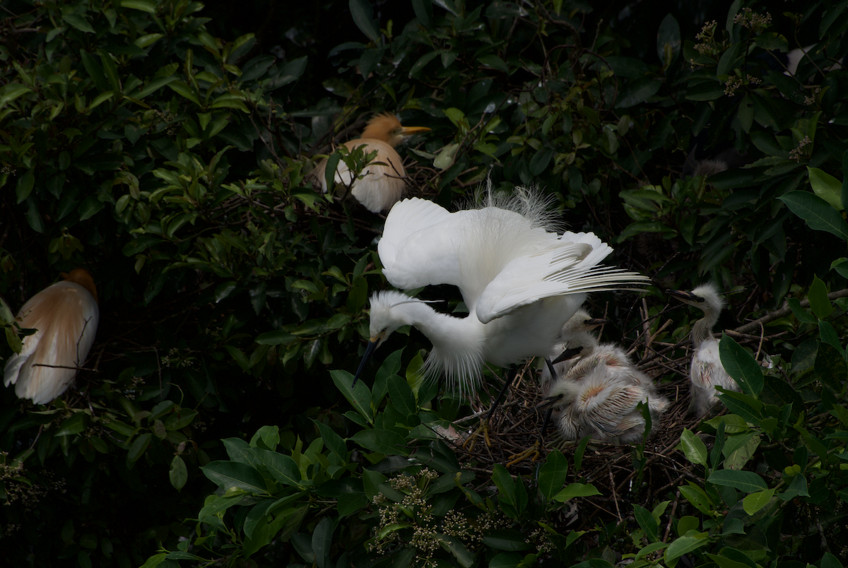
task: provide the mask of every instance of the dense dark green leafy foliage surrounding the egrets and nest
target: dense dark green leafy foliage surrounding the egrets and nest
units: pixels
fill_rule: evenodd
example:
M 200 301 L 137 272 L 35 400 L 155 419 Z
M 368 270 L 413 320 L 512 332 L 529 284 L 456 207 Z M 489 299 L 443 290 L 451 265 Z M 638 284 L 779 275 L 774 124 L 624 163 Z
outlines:
M 188 0 L 2 4 L 0 355 L 61 270 L 91 270 L 101 309 L 74 389 L 46 406 L 0 394 L 4 560 L 848 561 L 848 5 L 737 0 L 689 30 L 570 0 L 410 4 L 392 21 L 343 3 L 360 41 L 326 45 L 326 64 L 215 37 Z M 656 44 L 631 44 L 628 19 Z M 665 420 L 669 444 L 583 440 L 508 469 L 434 433 L 489 398 L 421 381 L 417 331 L 351 387 L 368 294 L 387 286 L 382 218 L 309 173 L 327 154 L 360 170 L 332 143 L 383 110 L 432 129 L 402 150 L 411 195 L 537 186 L 655 279 L 644 300 L 592 302 L 609 339 L 665 365 L 678 409 L 697 316 L 661 288 L 729 292 L 728 411 Z M 744 167 L 683 176 L 731 149 Z

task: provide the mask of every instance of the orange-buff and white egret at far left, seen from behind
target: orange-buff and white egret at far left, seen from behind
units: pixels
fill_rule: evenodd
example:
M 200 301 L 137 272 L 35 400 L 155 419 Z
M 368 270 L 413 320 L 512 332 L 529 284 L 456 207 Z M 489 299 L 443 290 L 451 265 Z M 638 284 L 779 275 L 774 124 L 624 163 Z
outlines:
M 13 354 L 3 370 L 4 384 L 14 385 L 18 398 L 31 398 L 34 404 L 47 404 L 70 387 L 98 330 L 92 275 L 77 268 L 62 277 L 20 309 L 20 327 L 36 332 L 23 338 L 20 354 Z

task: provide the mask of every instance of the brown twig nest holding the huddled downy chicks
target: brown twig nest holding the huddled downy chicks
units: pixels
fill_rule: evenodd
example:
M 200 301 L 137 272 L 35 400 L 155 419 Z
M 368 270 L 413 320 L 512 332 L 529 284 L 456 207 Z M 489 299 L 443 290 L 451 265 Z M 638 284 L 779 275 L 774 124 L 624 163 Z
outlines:
M 633 359 L 640 356 L 637 367 L 651 376 L 658 392 L 669 401 L 668 409 L 653 425 L 644 447 L 589 440 L 576 471 L 581 441 L 562 441 L 555 426 L 549 424 L 538 453 L 522 455 L 538 442 L 544 423 L 544 410 L 536 408 L 543 397 L 538 365 L 533 362 L 518 371 L 503 404 L 495 410 L 488 426 L 488 444 L 483 434 L 476 432 L 489 408 L 479 398 L 471 404 L 474 414 L 457 420 L 456 436 L 446 436 L 445 442 L 455 449 L 465 469 L 480 472 L 487 480 L 496 464 L 505 465 L 513 476 L 528 476 L 526 479 L 533 480 L 538 475 L 539 463 L 555 449 L 561 451 L 569 463 L 568 482 L 591 483 L 600 492 L 580 501 L 583 510 L 579 515 L 577 505 L 572 502 L 572 510 L 563 513 L 566 516 L 563 524 L 569 529 L 591 530 L 599 521 L 625 521 L 628 516 L 632 518 L 633 504 L 650 510 L 659 501 L 670 499 L 672 508 L 676 509 L 681 500 L 677 487 L 687 479 L 701 482 L 702 473 L 700 466 L 689 462 L 678 449 L 683 428 L 695 430 L 701 420 L 689 412 L 690 343 L 688 338 L 669 344 L 655 343 L 650 335 L 644 337 L 633 345 L 631 356 Z M 763 337 L 739 338 L 754 349 L 758 344 L 762 347 Z M 714 411 L 724 409 L 719 406 Z M 670 526 L 663 528 L 668 530 Z

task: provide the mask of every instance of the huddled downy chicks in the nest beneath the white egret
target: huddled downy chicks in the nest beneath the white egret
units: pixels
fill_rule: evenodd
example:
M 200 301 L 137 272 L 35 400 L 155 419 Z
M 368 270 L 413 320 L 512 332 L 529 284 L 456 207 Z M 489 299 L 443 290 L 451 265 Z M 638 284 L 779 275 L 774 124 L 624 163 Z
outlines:
M 622 348 L 598 342 L 592 332 L 598 325 L 599 321 L 590 319 L 583 310 L 566 322 L 561 334 L 563 344 L 579 354 L 542 371 L 546 398 L 541 406 L 555 412 L 563 440 L 591 436 L 611 443 L 640 442 L 645 424 L 637 405 L 648 405 L 652 424 L 656 425 L 667 400 L 656 393 L 654 382 L 636 369 Z

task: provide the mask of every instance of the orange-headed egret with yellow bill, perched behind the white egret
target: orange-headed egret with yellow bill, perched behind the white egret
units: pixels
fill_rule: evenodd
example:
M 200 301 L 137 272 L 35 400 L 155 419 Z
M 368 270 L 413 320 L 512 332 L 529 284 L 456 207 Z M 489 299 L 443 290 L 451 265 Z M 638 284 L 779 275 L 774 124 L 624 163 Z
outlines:
M 349 186 L 354 198 L 371 213 L 379 213 L 391 208 L 403 195 L 406 175 L 403 160 L 394 148 L 407 136 L 429 130 L 424 126 L 401 125 L 398 117 L 391 113 L 377 114 L 368 121 L 360 138 L 344 142 L 344 146 L 349 150 L 363 147 L 366 154 L 377 152 L 377 155 L 360 172 L 362 175 L 360 179 L 354 179 L 354 172 L 349 169 L 344 160 L 339 160 L 335 175 L 336 183 Z M 325 193 L 327 192 L 326 163 L 326 159 L 321 160 L 314 172 Z

